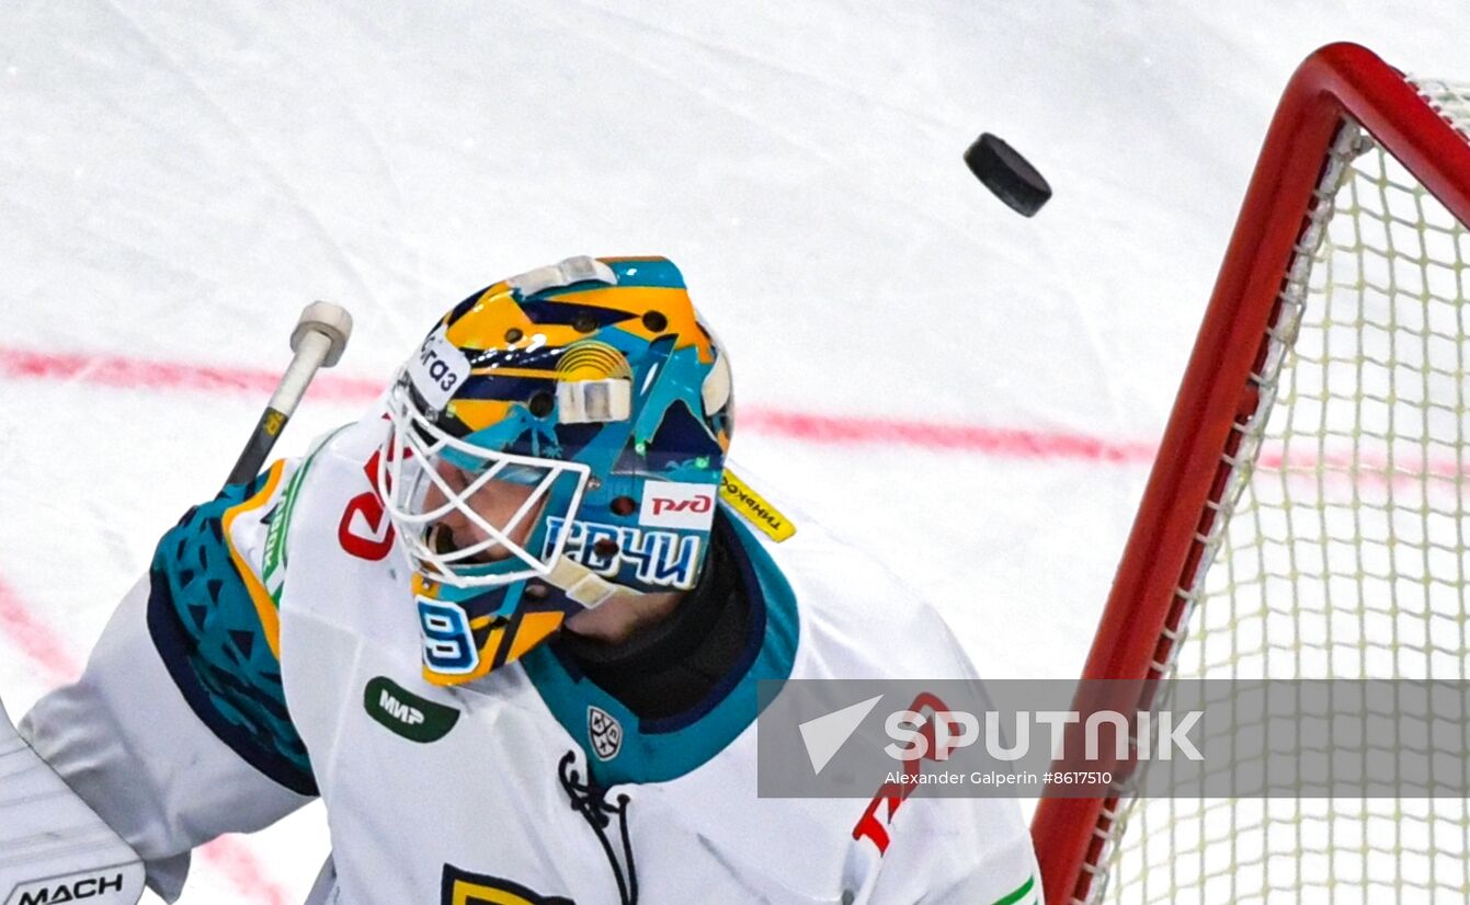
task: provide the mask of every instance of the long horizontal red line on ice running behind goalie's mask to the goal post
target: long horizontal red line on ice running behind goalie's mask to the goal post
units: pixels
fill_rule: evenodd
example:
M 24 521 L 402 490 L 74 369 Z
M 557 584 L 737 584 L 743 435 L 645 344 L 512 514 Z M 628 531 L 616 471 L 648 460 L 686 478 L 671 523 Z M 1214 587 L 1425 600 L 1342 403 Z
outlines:
M 275 389 L 279 375 L 269 370 L 154 361 L 115 354 L 40 353 L 0 347 L 0 378 L 76 381 L 116 389 L 250 392 L 263 398 Z M 318 400 L 366 403 L 381 391 L 382 381 L 323 373 L 312 382 L 310 395 Z M 1005 458 L 1145 464 L 1154 457 L 1152 444 L 1114 442 L 1080 433 L 757 407 L 741 408 L 739 426 L 757 433 L 813 444 L 901 444 Z

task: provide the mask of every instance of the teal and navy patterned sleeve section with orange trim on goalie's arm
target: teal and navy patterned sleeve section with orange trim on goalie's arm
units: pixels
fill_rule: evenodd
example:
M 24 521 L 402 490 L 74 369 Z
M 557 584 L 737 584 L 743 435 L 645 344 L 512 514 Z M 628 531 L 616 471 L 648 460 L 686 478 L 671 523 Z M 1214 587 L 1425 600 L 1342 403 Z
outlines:
M 194 713 L 248 764 L 316 795 L 281 682 L 284 533 L 301 461 L 276 461 L 191 508 L 159 541 L 148 632 Z

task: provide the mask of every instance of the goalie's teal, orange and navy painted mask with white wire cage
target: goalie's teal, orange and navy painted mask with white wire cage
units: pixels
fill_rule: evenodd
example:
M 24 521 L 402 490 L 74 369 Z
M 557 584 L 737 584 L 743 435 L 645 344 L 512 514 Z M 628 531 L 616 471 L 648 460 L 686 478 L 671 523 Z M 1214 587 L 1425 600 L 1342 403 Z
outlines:
M 388 392 L 378 492 L 425 677 L 522 657 L 614 595 L 694 588 L 731 373 L 678 267 L 573 257 L 454 307 Z

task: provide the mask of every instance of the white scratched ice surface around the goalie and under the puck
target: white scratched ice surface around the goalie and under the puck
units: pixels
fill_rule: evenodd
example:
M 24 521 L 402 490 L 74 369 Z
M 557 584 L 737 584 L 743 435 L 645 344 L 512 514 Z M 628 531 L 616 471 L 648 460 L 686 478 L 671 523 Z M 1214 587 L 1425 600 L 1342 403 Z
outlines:
M 1075 676 L 1291 69 L 1348 38 L 1470 76 L 1455 3 L 1339 7 L 7 4 L 7 707 L 79 670 L 266 397 L 26 356 L 279 369 L 320 297 L 357 319 L 340 372 L 379 379 L 447 304 L 572 253 L 679 262 L 763 486 L 891 561 L 985 674 Z M 1051 181 L 1036 219 L 963 166 L 980 131 Z M 359 407 L 313 397 L 285 451 Z M 823 444 L 792 413 L 969 432 Z M 238 845 L 273 886 L 215 852 L 185 902 L 300 901 L 322 815 Z

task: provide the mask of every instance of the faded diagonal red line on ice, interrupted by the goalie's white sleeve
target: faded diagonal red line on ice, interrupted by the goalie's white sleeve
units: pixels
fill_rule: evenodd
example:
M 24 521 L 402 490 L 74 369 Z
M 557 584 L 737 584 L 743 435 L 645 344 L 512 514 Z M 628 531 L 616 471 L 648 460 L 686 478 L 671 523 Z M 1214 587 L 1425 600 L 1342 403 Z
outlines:
M 0 577 L 0 633 L 37 666 L 51 685 L 72 682 L 82 671 L 81 664 L 66 652 L 66 642 L 3 577 Z M 10 715 L 21 718 L 21 714 Z M 237 839 L 222 836 L 201 848 L 200 854 L 250 901 L 288 905 L 285 890 L 270 881 L 254 854 Z

